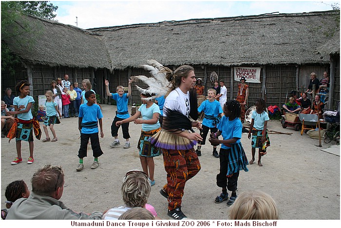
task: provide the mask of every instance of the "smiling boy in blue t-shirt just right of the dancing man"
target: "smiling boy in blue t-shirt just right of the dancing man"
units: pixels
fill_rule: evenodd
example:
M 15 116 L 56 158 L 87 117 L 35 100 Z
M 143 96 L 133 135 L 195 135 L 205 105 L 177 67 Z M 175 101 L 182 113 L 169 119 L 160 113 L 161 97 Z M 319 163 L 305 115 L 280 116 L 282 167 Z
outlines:
M 217 132 L 217 124 L 223 116 L 223 109 L 220 106 L 219 101 L 214 99 L 215 93 L 216 91 L 214 89 L 209 89 L 208 100 L 205 100 L 203 103 L 201 103 L 200 107 L 198 108 L 198 113 L 204 112 L 205 114 L 203 119 L 203 134 L 201 135 L 203 137 L 203 141 L 198 141 L 198 148 L 195 151 L 198 156 L 201 156 L 201 145 L 205 145 L 208 130 L 210 130 L 211 133 Z M 213 146 L 212 155 L 216 158 L 219 157 L 217 146 Z

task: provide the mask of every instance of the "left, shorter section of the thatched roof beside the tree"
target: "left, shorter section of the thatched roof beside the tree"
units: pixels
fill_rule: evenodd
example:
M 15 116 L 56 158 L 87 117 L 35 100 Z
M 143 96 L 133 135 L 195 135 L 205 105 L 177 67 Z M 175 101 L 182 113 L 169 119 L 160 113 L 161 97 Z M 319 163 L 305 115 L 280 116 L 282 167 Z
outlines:
M 20 35 L 1 40 L 25 61 L 49 66 L 110 69 L 107 49 L 99 34 L 32 16 L 21 16 L 16 23 L 6 29 Z

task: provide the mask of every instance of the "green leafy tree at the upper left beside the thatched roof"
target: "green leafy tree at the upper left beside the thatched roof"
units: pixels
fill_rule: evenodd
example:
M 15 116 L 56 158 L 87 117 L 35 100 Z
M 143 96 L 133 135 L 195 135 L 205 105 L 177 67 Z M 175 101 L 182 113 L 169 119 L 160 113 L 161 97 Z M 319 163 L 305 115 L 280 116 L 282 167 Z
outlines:
M 22 31 L 29 32 L 29 26 L 25 26 L 25 24 L 20 25 L 17 22 L 21 14 L 53 20 L 57 16 L 54 12 L 58 9 L 58 6 L 48 2 L 1 1 L 1 71 L 7 70 L 12 75 L 15 74 L 14 65 L 19 62 L 19 57 L 11 53 L 4 40 L 19 37 L 22 35 Z M 34 42 L 34 40 L 24 41 L 28 44 Z

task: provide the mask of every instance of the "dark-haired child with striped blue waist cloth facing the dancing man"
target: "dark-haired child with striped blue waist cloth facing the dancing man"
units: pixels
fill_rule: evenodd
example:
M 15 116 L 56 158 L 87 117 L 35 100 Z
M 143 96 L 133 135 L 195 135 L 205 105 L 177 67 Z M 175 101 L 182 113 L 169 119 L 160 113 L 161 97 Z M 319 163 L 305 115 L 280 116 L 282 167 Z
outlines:
M 220 172 L 217 175 L 217 186 L 222 188 L 222 193 L 214 200 L 215 203 L 227 201 L 231 206 L 237 198 L 237 183 L 239 171 L 248 171 L 246 154 L 240 139 L 242 138 L 243 125 L 240 119 L 240 104 L 236 100 L 228 100 L 224 105 L 224 116 L 220 120 L 218 132 L 211 133 L 209 141 L 216 145 L 221 143 L 219 151 Z M 218 136 L 222 135 L 223 140 Z M 232 191 L 228 199 L 227 190 Z

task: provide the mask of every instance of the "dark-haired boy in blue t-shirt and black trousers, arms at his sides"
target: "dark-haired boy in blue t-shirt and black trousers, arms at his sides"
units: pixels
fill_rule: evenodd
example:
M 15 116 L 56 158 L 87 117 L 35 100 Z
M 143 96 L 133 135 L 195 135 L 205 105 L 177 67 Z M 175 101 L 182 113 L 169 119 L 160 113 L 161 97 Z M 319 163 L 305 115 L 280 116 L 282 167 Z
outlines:
M 78 113 L 78 130 L 80 132 L 80 148 L 78 151 L 79 165 L 76 171 L 84 169 L 83 158 L 87 156 L 88 142 L 91 139 L 91 148 L 93 149 L 93 156 L 95 157 L 94 163 L 91 165 L 91 169 L 98 167 L 98 157 L 103 154 L 99 145 L 98 138 L 98 125 L 99 122 L 101 138 L 104 137 L 102 128 L 102 117 L 101 108 L 95 104 L 96 95 L 93 91 L 89 90 L 85 93 L 85 98 L 88 101 L 86 104 L 82 104 L 79 107 Z

